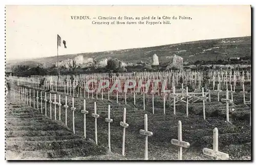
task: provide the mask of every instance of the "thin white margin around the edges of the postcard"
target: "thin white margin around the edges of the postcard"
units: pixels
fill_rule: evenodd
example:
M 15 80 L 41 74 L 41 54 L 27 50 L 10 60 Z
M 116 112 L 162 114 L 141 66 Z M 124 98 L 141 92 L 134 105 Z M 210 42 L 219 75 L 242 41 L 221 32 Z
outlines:
M 0 119 L 0 122 L 1 122 L 1 143 L 0 143 L 0 153 L 1 153 L 1 164 L 5 164 L 7 163 L 7 161 L 5 161 L 5 138 L 4 138 L 4 123 L 5 123 L 5 115 L 4 115 L 4 105 L 5 105 L 5 99 L 4 99 L 4 77 L 5 77 L 5 73 L 4 73 L 4 70 L 5 70 L 5 59 L 4 59 L 4 24 L 5 24 L 5 20 L 4 20 L 4 8 L 5 8 L 5 5 L 252 5 L 252 7 L 255 8 L 255 1 L 251 0 L 243 0 L 243 1 L 224 1 L 224 0 L 215 0 L 215 1 L 184 1 L 184 0 L 179 0 L 179 1 L 176 1 L 176 2 L 169 2 L 169 1 L 163 1 L 163 0 L 157 0 L 157 1 L 139 1 L 139 0 L 129 0 L 129 1 L 104 1 L 104 0 L 94 0 L 94 1 L 77 1 L 77 0 L 72 0 L 72 1 L 65 1 L 65 0 L 62 0 L 62 1 L 56 1 L 56 0 L 44 0 L 44 1 L 19 1 L 19 0 L 16 0 L 16 1 L 13 1 L 13 0 L 10 0 L 10 1 L 6 1 L 6 0 L 2 0 L 1 2 L 1 17 L 0 17 L 0 22 L 1 22 L 1 26 L 0 26 L 0 35 L 1 35 L 1 53 L 2 53 L 2 58 L 1 58 L 1 64 L 0 64 L 0 73 L 1 73 L 1 78 L 2 80 L 0 81 L 0 93 L 1 93 L 1 99 L 0 99 L 0 105 L 1 107 L 1 119 Z M 254 9 L 254 12 L 255 12 L 255 9 Z M 254 23 L 253 23 L 254 25 Z M 254 28 L 253 28 L 254 30 Z M 252 36 L 253 37 L 253 36 Z M 253 46 L 253 50 L 255 51 L 255 47 L 254 47 L 254 44 L 252 45 Z M 253 52 L 254 52 L 253 51 Z M 253 57 L 254 61 L 253 61 L 253 64 L 255 65 L 255 58 L 256 57 Z M 253 68 L 253 73 L 255 73 L 255 67 Z M 254 82 L 254 79 L 253 79 L 253 82 Z M 255 88 L 255 87 L 254 87 Z M 253 91 L 253 93 L 255 93 Z M 254 98 L 255 99 L 255 98 Z M 255 100 L 253 100 L 255 101 Z M 255 102 L 254 102 L 255 103 Z M 255 119 L 255 111 L 254 111 L 254 115 L 253 115 L 253 119 Z M 254 132 L 254 131 L 253 131 Z M 253 136 L 254 137 L 254 136 Z M 255 138 L 254 138 L 255 139 Z M 255 144 L 255 142 L 253 143 Z M 253 146 L 254 148 L 254 146 Z M 253 152 L 255 153 L 255 151 Z M 253 155 L 254 159 L 255 159 L 255 156 Z M 18 162 L 20 164 L 25 164 L 27 162 Z M 37 162 L 32 162 L 32 163 L 37 163 Z M 42 164 L 49 164 L 49 162 L 41 162 Z M 52 162 L 51 162 L 52 163 Z M 61 163 L 61 162 L 55 162 L 55 163 Z M 62 162 L 63 163 L 63 162 Z M 72 162 L 72 163 L 76 163 L 76 162 Z M 91 162 L 81 162 L 81 163 L 91 163 Z M 97 162 L 97 163 L 100 163 L 100 162 Z M 103 162 L 103 163 L 106 163 L 106 162 Z M 117 163 L 120 163 L 120 162 L 117 162 Z M 127 162 L 125 162 L 127 163 Z M 139 163 L 139 162 L 132 162 L 132 163 Z M 145 163 L 145 162 L 140 162 L 140 163 Z M 157 162 L 153 162 L 153 163 L 157 163 Z M 161 163 L 172 163 L 172 164 L 179 164 L 179 162 L 161 162 Z M 197 162 L 196 162 L 197 163 Z M 207 162 L 203 162 L 203 163 L 207 163 Z M 220 162 L 218 162 L 219 164 Z M 225 162 L 222 162 L 222 163 L 225 163 Z M 243 163 L 243 162 L 242 162 Z

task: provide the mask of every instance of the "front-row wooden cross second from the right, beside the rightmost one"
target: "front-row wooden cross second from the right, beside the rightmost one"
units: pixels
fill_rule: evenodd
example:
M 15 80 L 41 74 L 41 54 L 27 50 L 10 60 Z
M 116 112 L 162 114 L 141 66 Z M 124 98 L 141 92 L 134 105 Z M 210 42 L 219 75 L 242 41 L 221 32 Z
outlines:
M 182 160 L 182 147 L 188 148 L 190 144 L 188 142 L 182 141 L 182 125 L 181 121 L 178 121 L 178 139 L 171 139 L 170 143 L 173 145 L 179 146 L 178 150 L 178 159 Z

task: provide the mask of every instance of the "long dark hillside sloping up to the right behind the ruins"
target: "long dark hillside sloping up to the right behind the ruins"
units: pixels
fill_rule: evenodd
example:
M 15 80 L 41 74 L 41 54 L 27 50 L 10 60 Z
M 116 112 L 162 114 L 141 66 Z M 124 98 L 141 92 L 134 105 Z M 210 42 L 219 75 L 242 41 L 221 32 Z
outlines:
M 150 62 L 150 59 L 154 54 L 158 55 L 160 63 L 168 62 L 168 57 L 173 54 L 183 57 L 184 62 L 195 62 L 197 60 L 209 61 L 216 59 L 228 59 L 229 57 L 251 56 L 251 37 L 200 40 L 148 48 L 63 55 L 59 56 L 59 61 L 67 58 L 74 58 L 78 55 L 83 55 L 84 58 L 91 57 L 96 60 L 111 57 L 118 58 L 119 60 L 125 62 L 136 63 L 140 60 Z M 49 62 L 55 63 L 57 62 L 57 56 L 31 60 L 45 64 Z M 10 62 L 7 61 L 7 65 L 8 63 Z

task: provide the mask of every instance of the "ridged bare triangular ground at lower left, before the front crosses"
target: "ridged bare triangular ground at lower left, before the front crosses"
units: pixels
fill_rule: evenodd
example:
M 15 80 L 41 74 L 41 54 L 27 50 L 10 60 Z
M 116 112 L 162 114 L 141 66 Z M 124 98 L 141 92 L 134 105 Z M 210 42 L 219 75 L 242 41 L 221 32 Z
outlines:
M 125 159 L 109 153 L 93 140 L 85 140 L 58 121 L 6 98 L 6 159 Z

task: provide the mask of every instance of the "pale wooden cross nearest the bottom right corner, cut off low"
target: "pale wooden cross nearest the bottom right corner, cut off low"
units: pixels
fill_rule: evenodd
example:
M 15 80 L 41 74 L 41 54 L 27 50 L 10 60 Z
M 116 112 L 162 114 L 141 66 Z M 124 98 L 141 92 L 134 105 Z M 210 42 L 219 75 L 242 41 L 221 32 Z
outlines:
M 218 133 L 218 128 L 215 128 L 214 129 L 214 136 L 213 136 L 214 137 L 214 148 L 213 148 L 213 150 L 208 149 L 208 148 L 204 148 L 203 153 L 205 155 L 215 157 L 216 160 L 217 159 L 227 160 L 229 158 L 229 155 L 224 153 L 224 152 L 219 151 L 218 134 L 219 134 Z

